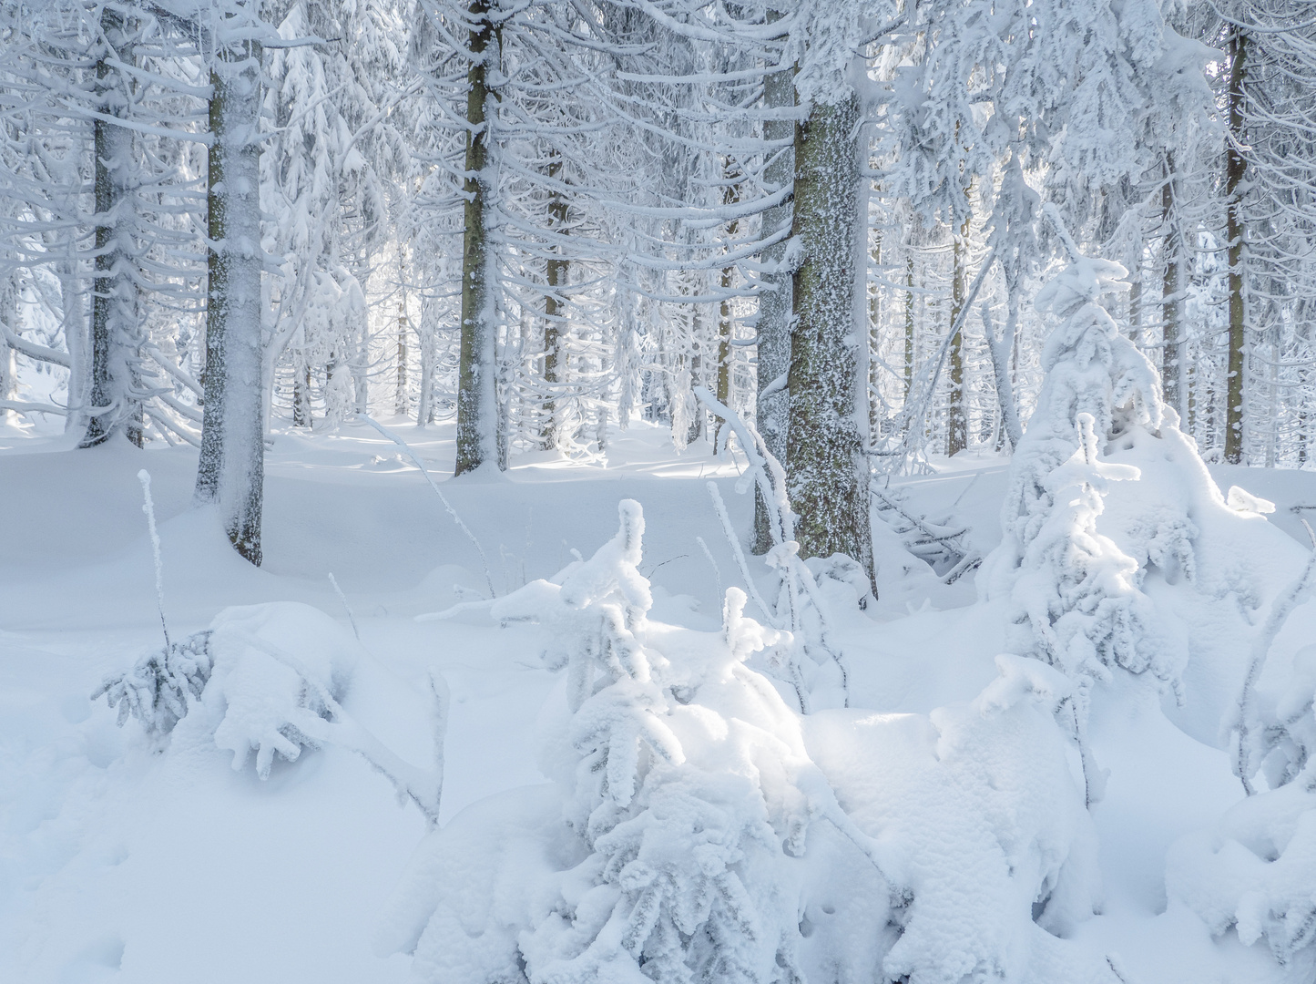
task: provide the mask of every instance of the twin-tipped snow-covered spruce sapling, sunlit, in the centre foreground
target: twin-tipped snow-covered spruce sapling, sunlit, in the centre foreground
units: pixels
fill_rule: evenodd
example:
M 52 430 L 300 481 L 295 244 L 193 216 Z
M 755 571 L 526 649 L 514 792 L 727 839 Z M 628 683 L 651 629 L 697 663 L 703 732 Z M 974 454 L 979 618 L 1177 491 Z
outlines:
M 816 819 L 870 859 L 871 847 L 808 760 L 799 719 L 744 665 L 779 634 L 745 618 L 738 588 L 713 638 L 650 626 L 644 516 L 632 501 L 619 514 L 594 557 L 492 607 L 545 626 L 550 665 L 566 665 L 565 821 L 586 850 L 553 910 L 520 937 L 525 975 L 799 980 L 790 859 Z

